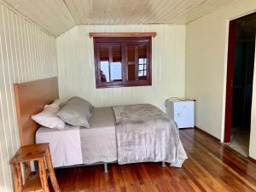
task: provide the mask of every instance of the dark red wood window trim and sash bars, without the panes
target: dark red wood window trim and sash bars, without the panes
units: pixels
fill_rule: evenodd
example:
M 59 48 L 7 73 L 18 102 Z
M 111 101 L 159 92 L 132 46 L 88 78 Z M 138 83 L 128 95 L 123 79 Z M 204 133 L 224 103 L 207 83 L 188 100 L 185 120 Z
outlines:
M 96 75 L 96 88 L 111 88 L 111 87 L 129 87 L 129 86 L 146 86 L 152 85 L 152 67 L 151 67 L 151 37 L 143 38 L 94 38 L 94 55 L 95 55 L 95 75 Z M 102 72 L 100 64 L 100 47 L 108 48 L 108 67 L 110 69 L 109 63 L 113 61 L 113 46 L 120 47 L 121 49 L 121 70 L 122 79 L 119 81 L 102 82 Z M 135 60 L 128 62 L 127 49 L 128 46 L 134 47 L 134 58 Z M 143 58 L 143 63 L 139 64 L 138 49 L 139 47 L 146 48 L 146 59 Z M 145 53 L 145 52 L 144 52 Z M 145 63 L 146 61 L 146 63 Z M 143 69 L 139 69 L 142 67 Z M 146 67 L 145 67 L 146 66 Z M 128 80 L 128 71 L 131 67 L 134 70 L 135 77 L 134 80 Z M 135 68 L 135 69 L 134 69 Z M 131 71 L 132 71 L 131 70 Z M 138 77 L 139 71 L 143 71 L 145 76 Z M 109 79 L 111 77 L 111 71 L 108 71 Z M 130 74 L 130 73 L 129 73 Z M 129 76 L 131 77 L 131 76 Z M 104 76 L 104 79 L 106 76 Z

